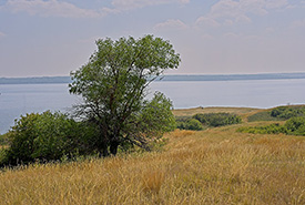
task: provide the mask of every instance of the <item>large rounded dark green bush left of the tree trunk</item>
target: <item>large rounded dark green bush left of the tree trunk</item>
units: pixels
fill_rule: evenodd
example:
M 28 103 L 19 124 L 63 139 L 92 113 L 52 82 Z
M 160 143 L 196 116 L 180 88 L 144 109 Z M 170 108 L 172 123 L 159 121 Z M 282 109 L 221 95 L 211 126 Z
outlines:
M 16 121 L 7 133 L 9 147 L 6 150 L 4 165 L 18 165 L 34 161 L 48 162 L 70 157 L 85 152 L 89 126 L 82 126 L 62 113 L 47 111 L 31 113 Z

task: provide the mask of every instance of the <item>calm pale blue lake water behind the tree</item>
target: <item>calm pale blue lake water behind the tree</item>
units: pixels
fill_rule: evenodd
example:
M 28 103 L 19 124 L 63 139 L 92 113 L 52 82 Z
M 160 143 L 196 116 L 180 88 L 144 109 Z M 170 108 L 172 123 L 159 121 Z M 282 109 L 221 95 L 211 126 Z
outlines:
M 175 109 L 195 106 L 272 107 L 305 104 L 305 79 L 271 81 L 155 82 Z M 0 133 L 14 119 L 31 112 L 69 111 L 80 99 L 70 95 L 67 84 L 0 84 Z

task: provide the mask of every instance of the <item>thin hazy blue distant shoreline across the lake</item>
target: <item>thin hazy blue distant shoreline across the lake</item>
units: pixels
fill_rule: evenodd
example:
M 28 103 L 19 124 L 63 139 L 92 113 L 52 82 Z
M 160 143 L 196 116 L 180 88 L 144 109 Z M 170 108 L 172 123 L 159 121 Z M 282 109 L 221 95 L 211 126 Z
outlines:
M 159 81 L 248 81 L 305 79 L 304 73 L 264 73 L 264 74 L 181 74 L 164 75 Z M 57 84 L 71 83 L 70 76 L 0 78 L 0 84 Z

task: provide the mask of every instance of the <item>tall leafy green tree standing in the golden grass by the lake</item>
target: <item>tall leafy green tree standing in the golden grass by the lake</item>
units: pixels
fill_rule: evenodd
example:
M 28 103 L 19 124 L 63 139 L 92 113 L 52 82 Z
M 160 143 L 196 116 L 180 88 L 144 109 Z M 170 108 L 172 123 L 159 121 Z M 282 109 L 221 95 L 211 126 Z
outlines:
M 145 100 L 148 86 L 165 70 L 176 69 L 180 55 L 169 41 L 153 35 L 101 39 L 96 45 L 89 62 L 71 72 L 70 93 L 83 98 L 75 115 L 99 127 L 94 142 L 103 156 L 115 155 L 125 143 L 148 148 L 149 139 L 174 123 L 171 101 L 161 93 Z

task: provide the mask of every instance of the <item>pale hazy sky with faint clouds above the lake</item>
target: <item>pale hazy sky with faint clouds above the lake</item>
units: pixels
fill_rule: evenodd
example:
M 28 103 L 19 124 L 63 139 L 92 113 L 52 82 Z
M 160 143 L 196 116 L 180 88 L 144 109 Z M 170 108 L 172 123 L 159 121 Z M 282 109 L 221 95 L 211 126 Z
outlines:
M 167 74 L 305 72 L 305 0 L 0 0 L 0 78 L 69 75 L 95 40 L 153 34 Z

